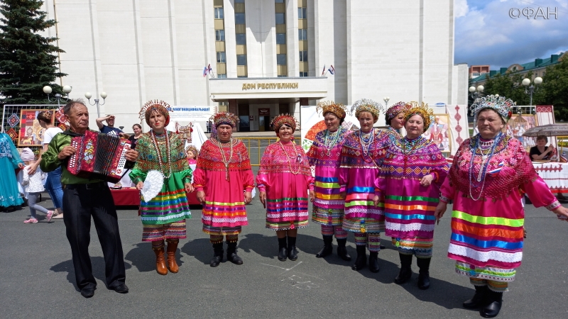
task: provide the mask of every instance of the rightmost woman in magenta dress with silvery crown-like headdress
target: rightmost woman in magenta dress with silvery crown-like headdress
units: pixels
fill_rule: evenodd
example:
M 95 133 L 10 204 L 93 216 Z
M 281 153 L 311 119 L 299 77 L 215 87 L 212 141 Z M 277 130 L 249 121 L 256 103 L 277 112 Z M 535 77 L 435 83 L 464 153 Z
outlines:
M 435 211 L 442 218 L 454 201 L 448 257 L 475 287 L 464 308 L 481 308 L 485 318 L 498 315 L 523 257 L 523 194 L 535 207 L 568 218 L 568 209 L 538 177 L 521 142 L 501 132 L 513 105 L 504 96 L 476 99 L 471 112 L 479 134 L 459 146 Z

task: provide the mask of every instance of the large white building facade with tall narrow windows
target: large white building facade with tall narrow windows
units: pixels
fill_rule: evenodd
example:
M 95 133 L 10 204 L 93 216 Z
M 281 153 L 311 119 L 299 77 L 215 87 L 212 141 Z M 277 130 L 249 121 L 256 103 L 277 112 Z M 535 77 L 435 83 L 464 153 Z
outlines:
M 467 102 L 453 0 L 47 0 L 43 10 L 65 50 L 60 84 L 72 98 L 107 92 L 100 113 L 127 132 L 151 99 L 219 106 L 244 131 L 327 99 Z

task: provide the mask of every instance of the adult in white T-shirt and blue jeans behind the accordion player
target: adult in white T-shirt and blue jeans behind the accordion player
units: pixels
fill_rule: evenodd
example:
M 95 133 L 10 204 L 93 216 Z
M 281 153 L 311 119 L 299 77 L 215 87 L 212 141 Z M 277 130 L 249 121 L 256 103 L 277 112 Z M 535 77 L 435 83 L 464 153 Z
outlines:
M 53 140 L 55 135 L 62 133 L 63 131 L 58 128 L 57 126 L 53 125 L 52 116 L 53 113 L 50 111 L 43 111 L 40 112 L 37 116 L 38 122 L 42 128 L 45 128 L 45 132 L 43 133 L 43 152 L 48 150 L 48 145 Z M 33 175 L 35 173 L 35 169 L 38 169 L 38 166 L 41 162 L 41 156 L 38 160 L 31 164 L 28 167 L 28 174 Z M 63 189 L 61 185 L 61 167 L 58 167 L 52 172 L 48 173 L 48 179 L 45 180 L 45 189 L 48 191 L 51 200 L 53 201 L 53 206 L 55 207 L 55 214 L 53 218 L 60 219 L 63 218 Z

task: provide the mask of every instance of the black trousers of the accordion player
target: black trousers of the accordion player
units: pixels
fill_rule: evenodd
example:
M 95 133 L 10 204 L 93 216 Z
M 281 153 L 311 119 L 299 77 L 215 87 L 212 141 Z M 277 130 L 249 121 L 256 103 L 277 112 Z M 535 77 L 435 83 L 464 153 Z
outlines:
M 63 212 L 79 289 L 97 286 L 89 256 L 91 217 L 101 242 L 107 286 L 112 289 L 124 284 L 126 271 L 118 217 L 107 183 L 66 185 L 63 189 Z

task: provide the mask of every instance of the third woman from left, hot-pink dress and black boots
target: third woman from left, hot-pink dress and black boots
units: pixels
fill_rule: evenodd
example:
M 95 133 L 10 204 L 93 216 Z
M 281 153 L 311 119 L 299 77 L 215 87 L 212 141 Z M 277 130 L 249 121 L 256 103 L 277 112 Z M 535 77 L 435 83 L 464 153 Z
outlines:
M 307 227 L 308 190 L 314 200 L 314 178 L 304 150 L 293 142 L 297 120 L 288 114 L 272 122 L 280 140 L 268 145 L 256 176 L 261 202 L 266 208 L 266 228 L 278 237 L 278 260 L 297 259 L 297 229 Z M 286 242 L 288 238 L 288 245 Z

